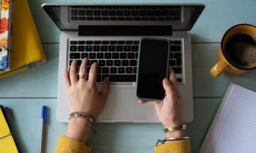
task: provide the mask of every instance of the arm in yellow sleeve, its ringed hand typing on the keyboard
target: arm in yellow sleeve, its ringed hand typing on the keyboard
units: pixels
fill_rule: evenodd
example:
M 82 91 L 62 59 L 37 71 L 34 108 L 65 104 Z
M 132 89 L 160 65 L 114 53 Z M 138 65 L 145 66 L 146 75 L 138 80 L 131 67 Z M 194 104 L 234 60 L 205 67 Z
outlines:
M 87 76 L 88 60 L 84 59 L 79 71 L 79 76 Z M 82 111 L 96 119 L 102 110 L 108 96 L 109 78 L 102 82 L 102 90 L 97 90 L 97 63 L 91 66 L 89 79 L 80 77 L 78 79 L 76 71 L 76 62 L 73 61 L 70 71 L 64 72 L 65 86 L 69 98 L 70 111 Z M 59 144 L 56 152 L 91 152 L 91 147 L 86 146 L 87 138 L 91 130 L 91 122 L 83 117 L 72 117 L 67 125 L 66 136 L 59 138 Z

